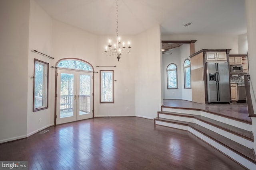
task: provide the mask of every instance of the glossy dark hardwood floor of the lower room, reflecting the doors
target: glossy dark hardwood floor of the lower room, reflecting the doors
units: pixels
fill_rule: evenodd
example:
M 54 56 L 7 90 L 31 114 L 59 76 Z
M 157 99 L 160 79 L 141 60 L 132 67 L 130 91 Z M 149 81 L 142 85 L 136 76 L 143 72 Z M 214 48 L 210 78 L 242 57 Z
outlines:
M 30 170 L 242 170 L 188 131 L 140 117 L 98 117 L 0 145 L 0 160 Z

